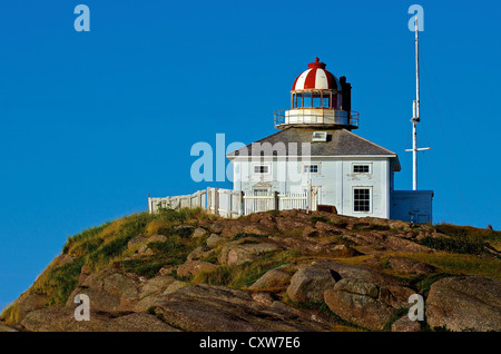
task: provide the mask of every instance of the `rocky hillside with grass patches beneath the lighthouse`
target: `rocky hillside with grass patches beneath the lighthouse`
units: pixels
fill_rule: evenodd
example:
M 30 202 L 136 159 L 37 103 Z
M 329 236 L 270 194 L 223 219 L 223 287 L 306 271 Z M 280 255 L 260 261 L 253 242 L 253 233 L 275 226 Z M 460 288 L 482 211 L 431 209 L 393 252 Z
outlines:
M 500 331 L 500 245 L 492 229 L 320 212 L 135 214 L 68 238 L 0 331 Z

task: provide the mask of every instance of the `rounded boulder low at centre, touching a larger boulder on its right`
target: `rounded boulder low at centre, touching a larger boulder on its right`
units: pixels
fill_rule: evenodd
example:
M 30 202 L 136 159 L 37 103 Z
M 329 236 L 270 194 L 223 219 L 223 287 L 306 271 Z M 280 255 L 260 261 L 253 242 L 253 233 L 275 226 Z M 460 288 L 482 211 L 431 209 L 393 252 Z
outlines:
M 287 287 L 287 295 L 294 302 L 318 303 L 324 299 L 324 292 L 334 286 L 336 281 L 326 267 L 311 266 L 297 271 Z

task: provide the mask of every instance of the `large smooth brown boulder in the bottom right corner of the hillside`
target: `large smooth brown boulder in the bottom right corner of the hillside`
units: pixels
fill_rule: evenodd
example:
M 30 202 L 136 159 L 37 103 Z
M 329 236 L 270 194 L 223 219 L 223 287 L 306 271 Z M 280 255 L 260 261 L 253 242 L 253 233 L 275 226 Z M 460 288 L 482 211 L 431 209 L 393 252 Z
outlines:
M 485 276 L 454 276 L 434 283 L 426 298 L 431 327 L 501 331 L 501 282 Z

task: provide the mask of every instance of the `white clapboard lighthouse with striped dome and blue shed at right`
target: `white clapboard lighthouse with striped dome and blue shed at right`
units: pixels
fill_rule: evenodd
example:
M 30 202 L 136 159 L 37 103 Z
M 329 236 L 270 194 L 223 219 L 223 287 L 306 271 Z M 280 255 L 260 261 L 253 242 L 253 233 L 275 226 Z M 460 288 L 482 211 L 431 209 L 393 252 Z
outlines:
M 234 190 L 253 198 L 244 214 L 268 208 L 259 197 L 285 203 L 307 196 L 311 209 L 328 205 L 342 215 L 431 222 L 433 191 L 394 189 L 397 155 L 353 132 L 352 87 L 325 67 L 315 58 L 296 78 L 291 109 L 275 112 L 277 132 L 227 155 Z

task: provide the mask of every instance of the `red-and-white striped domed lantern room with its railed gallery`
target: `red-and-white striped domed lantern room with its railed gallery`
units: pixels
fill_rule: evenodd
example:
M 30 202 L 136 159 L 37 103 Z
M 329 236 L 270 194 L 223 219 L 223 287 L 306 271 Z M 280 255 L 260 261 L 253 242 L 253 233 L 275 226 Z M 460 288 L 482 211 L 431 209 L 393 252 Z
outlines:
M 346 77 L 337 79 L 315 58 L 294 81 L 291 109 L 278 110 L 275 127 L 358 128 L 358 112 L 351 110 L 352 86 Z

